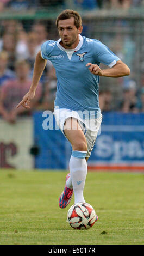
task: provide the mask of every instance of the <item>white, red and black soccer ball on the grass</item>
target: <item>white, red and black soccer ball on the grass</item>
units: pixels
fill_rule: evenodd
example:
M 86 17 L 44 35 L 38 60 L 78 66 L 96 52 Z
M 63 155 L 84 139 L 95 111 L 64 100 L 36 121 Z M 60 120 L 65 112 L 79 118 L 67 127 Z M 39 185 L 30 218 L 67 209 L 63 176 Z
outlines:
M 97 220 L 95 210 L 87 203 L 73 204 L 67 212 L 67 222 L 74 229 L 89 229 Z

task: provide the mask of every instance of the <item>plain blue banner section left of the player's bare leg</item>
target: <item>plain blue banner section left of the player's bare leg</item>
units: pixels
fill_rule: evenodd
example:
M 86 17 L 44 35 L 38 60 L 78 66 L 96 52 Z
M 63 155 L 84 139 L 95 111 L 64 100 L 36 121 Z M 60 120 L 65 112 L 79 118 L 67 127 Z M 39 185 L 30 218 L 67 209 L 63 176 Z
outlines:
M 58 127 L 55 127 L 54 116 L 47 121 L 43 112 L 35 112 L 33 118 L 34 144 L 39 148 L 39 154 L 35 156 L 35 168 L 66 169 L 66 158 L 70 157 L 71 145 Z M 47 127 L 43 127 L 43 122 L 47 122 Z

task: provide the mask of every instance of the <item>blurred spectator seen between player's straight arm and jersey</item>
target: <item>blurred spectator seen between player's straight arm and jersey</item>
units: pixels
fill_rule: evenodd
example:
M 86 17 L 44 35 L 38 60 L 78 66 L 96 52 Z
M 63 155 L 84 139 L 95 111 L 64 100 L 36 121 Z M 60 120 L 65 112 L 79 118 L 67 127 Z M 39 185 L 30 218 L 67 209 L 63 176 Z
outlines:
M 46 82 L 43 84 L 43 97 L 39 109 L 53 111 L 55 94 L 57 90 L 57 78 L 53 66 L 47 71 Z

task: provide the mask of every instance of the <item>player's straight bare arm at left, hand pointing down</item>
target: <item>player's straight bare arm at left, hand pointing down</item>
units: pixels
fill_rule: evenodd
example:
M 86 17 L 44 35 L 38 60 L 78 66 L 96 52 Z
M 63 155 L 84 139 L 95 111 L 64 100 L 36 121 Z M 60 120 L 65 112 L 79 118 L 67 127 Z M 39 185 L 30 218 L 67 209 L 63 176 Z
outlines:
M 47 60 L 43 59 L 41 57 L 41 52 L 37 53 L 36 58 L 35 58 L 35 63 L 34 63 L 34 72 L 33 72 L 33 78 L 32 78 L 32 84 L 30 86 L 29 91 L 27 92 L 26 95 L 24 95 L 22 101 L 18 103 L 16 108 L 20 107 L 21 105 L 24 108 L 30 108 L 30 101 L 34 98 L 35 96 L 35 91 L 37 88 L 37 84 L 40 81 L 41 75 L 43 73 L 43 70 L 45 69 Z

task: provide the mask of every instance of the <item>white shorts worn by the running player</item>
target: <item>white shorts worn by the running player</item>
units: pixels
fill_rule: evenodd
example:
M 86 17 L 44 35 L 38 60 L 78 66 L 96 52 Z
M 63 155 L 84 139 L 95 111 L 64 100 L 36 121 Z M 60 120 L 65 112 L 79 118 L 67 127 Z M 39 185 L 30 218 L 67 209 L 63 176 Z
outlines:
M 78 120 L 80 128 L 83 130 L 84 135 L 86 137 L 86 142 L 87 142 L 86 157 L 90 157 L 91 151 L 95 145 L 98 130 L 102 123 L 102 114 L 100 114 L 98 118 L 82 119 L 82 118 L 80 118 L 77 111 L 73 111 L 73 110 L 70 110 L 67 108 L 54 109 L 53 114 L 54 114 L 55 120 L 57 122 L 57 125 L 60 128 L 60 130 L 62 131 L 62 133 L 64 134 L 64 136 L 65 136 L 65 133 L 64 133 L 65 121 L 70 117 Z

